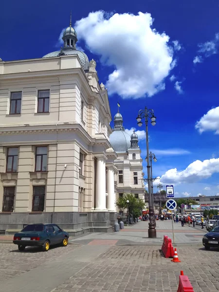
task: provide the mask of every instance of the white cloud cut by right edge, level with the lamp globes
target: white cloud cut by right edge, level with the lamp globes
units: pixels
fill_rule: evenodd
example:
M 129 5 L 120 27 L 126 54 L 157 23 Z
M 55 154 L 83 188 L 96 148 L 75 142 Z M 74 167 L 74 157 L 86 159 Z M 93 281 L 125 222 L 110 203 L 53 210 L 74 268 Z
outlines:
M 200 133 L 204 131 L 215 131 L 219 134 L 219 107 L 208 110 L 199 121 L 196 122 L 195 128 Z

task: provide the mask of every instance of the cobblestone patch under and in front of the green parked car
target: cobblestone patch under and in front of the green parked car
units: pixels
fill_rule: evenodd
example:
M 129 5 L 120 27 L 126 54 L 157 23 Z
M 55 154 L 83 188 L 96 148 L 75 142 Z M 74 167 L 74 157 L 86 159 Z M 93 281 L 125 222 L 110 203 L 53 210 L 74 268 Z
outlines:
M 27 247 L 23 252 L 18 251 L 15 244 L 0 244 L 0 281 L 15 275 L 28 272 L 46 262 L 51 262 L 59 256 L 66 255 L 78 246 L 69 244 L 67 247 L 51 247 L 48 252 L 40 248 Z

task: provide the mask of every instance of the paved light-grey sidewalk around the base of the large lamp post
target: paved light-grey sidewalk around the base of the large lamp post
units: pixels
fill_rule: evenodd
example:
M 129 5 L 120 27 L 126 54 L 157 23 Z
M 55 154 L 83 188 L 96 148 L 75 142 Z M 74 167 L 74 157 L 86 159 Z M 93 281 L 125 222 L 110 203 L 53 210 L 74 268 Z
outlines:
M 148 221 L 141 221 L 134 225 L 125 226 L 119 232 L 113 233 L 91 233 L 83 237 L 70 238 L 70 242 L 89 245 L 122 245 L 122 244 L 159 244 L 162 245 L 164 235 L 173 240 L 172 221 L 156 221 L 157 238 L 148 238 Z M 205 230 L 181 226 L 181 223 L 174 223 L 175 244 L 202 244 L 202 237 Z

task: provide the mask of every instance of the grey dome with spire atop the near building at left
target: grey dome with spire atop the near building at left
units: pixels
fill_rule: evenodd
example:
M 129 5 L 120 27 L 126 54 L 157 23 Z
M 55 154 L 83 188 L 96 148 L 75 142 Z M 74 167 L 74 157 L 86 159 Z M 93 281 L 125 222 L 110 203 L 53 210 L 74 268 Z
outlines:
M 62 39 L 64 42 L 63 48 L 61 48 L 60 51 L 55 51 L 47 55 L 44 55 L 43 58 L 58 57 L 61 55 L 78 55 L 83 69 L 88 70 L 89 69 L 88 56 L 84 52 L 76 50 L 75 47 L 75 44 L 77 42 L 77 33 L 75 29 L 72 27 L 72 13 L 70 19 L 70 26 L 64 30 Z

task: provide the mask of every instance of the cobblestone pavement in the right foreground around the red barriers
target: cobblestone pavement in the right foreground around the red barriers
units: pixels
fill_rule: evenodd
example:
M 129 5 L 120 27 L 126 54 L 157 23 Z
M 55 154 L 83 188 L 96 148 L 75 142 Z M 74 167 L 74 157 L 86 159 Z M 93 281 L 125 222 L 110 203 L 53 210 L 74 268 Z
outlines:
M 177 292 L 183 270 L 194 292 L 219 291 L 219 251 L 178 248 L 181 263 L 157 247 L 112 246 L 54 292 Z

